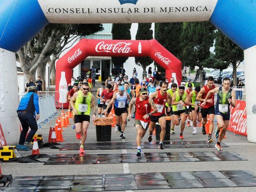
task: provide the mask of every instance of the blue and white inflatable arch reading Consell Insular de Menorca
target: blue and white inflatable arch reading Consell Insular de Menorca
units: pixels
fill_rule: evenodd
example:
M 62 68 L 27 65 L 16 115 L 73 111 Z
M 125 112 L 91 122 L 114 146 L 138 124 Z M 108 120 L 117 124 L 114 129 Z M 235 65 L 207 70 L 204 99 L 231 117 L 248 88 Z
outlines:
M 210 21 L 244 50 L 248 141 L 256 142 L 256 0 L 2 0 L 0 6 L 0 124 L 17 142 L 15 52 L 48 23 Z M 10 78 L 12 77 L 12 78 Z M 6 83 L 8 79 L 8 83 Z

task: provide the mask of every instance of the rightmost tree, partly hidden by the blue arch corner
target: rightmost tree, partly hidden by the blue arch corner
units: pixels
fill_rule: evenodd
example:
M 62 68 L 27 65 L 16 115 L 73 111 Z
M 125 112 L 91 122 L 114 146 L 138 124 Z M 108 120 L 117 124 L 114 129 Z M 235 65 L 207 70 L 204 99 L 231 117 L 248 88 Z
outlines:
M 233 85 L 236 85 L 236 68 L 244 60 L 244 51 L 221 31 L 215 33 L 215 53 L 216 57 L 227 62 L 233 67 Z

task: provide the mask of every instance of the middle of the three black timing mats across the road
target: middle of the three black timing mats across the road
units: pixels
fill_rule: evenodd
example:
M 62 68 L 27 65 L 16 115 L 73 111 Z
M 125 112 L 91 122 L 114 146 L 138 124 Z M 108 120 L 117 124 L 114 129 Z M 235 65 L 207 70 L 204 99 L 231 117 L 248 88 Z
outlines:
M 63 154 L 52 155 L 45 165 L 57 164 L 107 164 L 138 162 L 188 162 L 246 160 L 235 152 L 166 152 L 136 154 Z

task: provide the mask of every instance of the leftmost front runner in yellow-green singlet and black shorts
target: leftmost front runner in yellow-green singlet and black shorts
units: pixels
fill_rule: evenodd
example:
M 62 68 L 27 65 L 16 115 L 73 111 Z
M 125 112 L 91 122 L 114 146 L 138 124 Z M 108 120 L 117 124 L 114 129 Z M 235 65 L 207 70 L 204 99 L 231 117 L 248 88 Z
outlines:
M 76 138 L 81 139 L 79 153 L 84 154 L 84 143 L 87 136 L 87 128 L 90 123 L 91 107 L 93 109 L 93 121 L 96 120 L 95 97 L 89 92 L 89 84 L 83 83 L 83 90 L 76 92 L 71 100 L 70 105 L 73 108 Z

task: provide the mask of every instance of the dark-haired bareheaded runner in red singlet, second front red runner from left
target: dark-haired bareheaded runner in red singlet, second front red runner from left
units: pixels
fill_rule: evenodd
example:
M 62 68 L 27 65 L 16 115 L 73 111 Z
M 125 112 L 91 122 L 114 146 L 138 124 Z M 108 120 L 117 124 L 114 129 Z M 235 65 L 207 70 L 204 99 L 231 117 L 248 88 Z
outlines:
M 152 141 L 152 134 L 153 131 L 156 127 L 156 123 L 159 122 L 160 126 L 161 126 L 161 133 L 160 133 L 160 143 L 158 148 L 163 150 L 163 139 L 165 136 L 165 124 L 166 124 L 166 120 L 165 120 L 165 103 L 166 101 L 171 104 L 171 95 L 169 93 L 166 93 L 167 91 L 167 87 L 168 87 L 168 83 L 166 83 L 165 81 L 162 81 L 160 83 L 160 91 L 157 91 L 153 94 L 150 95 L 150 98 L 153 99 L 153 101 L 156 103 L 157 108 L 158 108 L 158 112 L 153 114 L 150 119 L 150 125 L 149 125 L 149 136 L 148 136 L 148 140 L 149 142 Z M 171 110 L 171 107 L 169 105 L 167 112 L 169 112 Z

